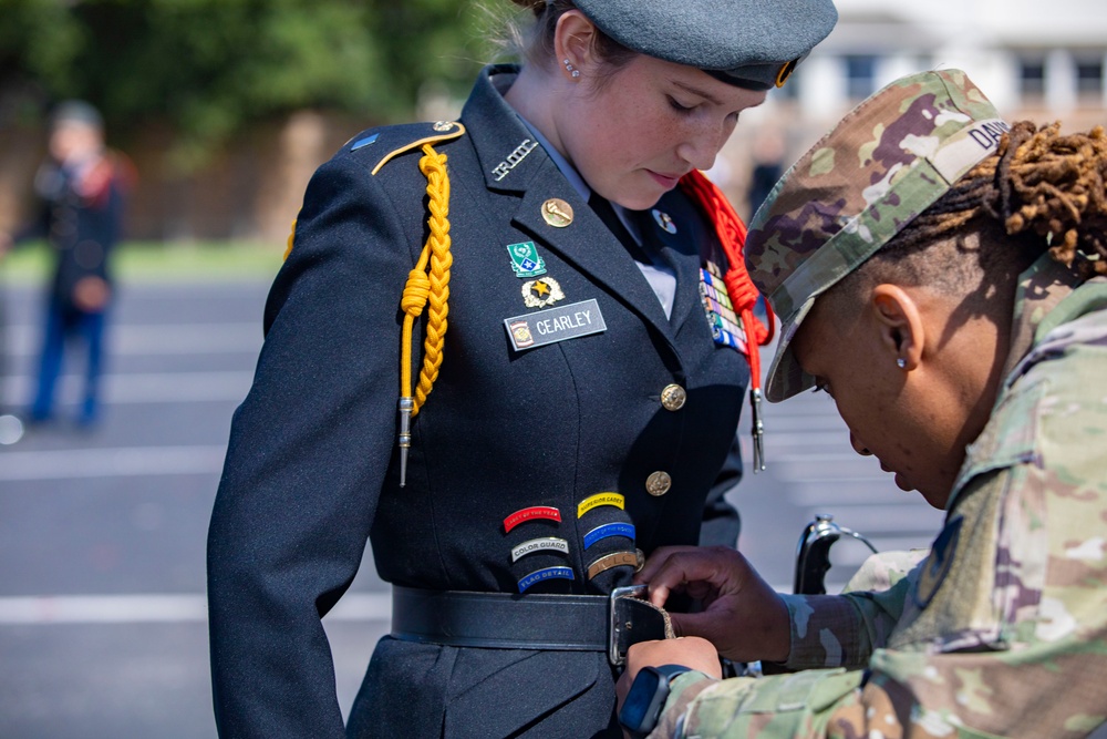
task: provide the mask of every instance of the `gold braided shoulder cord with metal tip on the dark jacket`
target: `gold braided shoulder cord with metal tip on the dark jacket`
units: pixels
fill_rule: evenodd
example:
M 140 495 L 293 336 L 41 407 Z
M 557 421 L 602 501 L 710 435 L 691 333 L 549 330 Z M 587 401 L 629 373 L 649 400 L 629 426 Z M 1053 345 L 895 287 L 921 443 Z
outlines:
M 415 268 L 407 274 L 404 296 L 400 305 L 404 310 L 402 357 L 400 359 L 400 486 L 407 479 L 407 450 L 412 445 L 411 420 L 431 394 L 442 366 L 443 342 L 446 336 L 446 315 L 449 308 L 449 177 L 446 174 L 446 155 L 438 154 L 431 144 L 423 145 L 420 171 L 426 176 L 430 198 L 427 226 L 431 235 L 423 245 Z M 430 273 L 427 266 L 430 265 Z M 426 337 L 423 341 L 423 367 L 418 373 L 418 388 L 412 397 L 412 326 L 430 301 Z

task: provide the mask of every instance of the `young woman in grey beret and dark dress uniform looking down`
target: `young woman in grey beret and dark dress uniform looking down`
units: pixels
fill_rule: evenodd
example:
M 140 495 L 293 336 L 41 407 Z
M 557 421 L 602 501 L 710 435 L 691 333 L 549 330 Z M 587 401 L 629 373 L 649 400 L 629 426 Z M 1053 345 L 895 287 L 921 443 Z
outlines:
M 392 635 L 349 736 L 618 736 L 608 595 L 696 542 L 749 378 L 711 291 L 741 228 L 694 171 L 836 12 L 524 4 L 527 63 L 459 122 L 359 134 L 308 187 L 209 532 L 224 736 L 343 735 L 320 618 L 366 538 Z

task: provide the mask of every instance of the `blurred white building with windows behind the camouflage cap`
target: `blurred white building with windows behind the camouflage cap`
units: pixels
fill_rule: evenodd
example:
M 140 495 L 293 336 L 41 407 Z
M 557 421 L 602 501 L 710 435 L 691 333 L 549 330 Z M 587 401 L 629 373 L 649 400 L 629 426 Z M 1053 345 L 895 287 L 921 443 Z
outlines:
M 752 171 L 766 130 L 783 132 L 790 162 L 869 94 L 927 69 L 964 70 L 1008 121 L 1059 120 L 1066 131 L 1107 123 L 1104 0 L 835 4 L 840 18 L 834 32 L 764 106 L 743 114 L 727 150 L 733 171 Z M 744 202 L 743 194 L 731 194 Z

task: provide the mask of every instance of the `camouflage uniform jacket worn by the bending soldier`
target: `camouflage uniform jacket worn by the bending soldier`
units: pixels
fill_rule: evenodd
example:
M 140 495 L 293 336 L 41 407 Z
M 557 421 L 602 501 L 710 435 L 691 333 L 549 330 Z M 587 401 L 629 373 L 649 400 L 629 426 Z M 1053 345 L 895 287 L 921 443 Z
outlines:
M 789 596 L 789 665 L 809 669 L 683 675 L 680 716 L 652 736 L 1069 739 L 1107 723 L 1107 280 L 1077 281 L 1048 255 L 1024 274 L 1015 336 L 1032 338 L 927 558 L 884 592 Z

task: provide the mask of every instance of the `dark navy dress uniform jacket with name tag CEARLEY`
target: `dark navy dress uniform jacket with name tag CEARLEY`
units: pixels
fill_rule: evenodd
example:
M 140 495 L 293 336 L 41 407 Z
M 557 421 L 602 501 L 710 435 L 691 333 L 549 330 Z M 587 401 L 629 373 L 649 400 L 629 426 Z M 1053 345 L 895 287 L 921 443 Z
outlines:
M 722 260 L 710 224 L 677 193 L 644 214 L 643 236 L 674 268 L 672 318 L 635 263 L 540 146 L 506 176 L 499 165 L 532 134 L 496 90 L 490 68 L 467 102 L 466 133 L 436 144 L 448 157 L 453 238 L 448 332 L 441 374 L 413 424 L 399 485 L 401 294 L 426 238 L 418 148 L 371 174 L 393 150 L 435 136 L 430 124 L 354 136 L 311 181 L 294 245 L 266 308 L 255 384 L 235 414 L 208 543 L 216 715 L 225 737 L 341 737 L 334 674 L 320 617 L 353 579 L 366 537 L 381 577 L 436 589 L 602 594 L 632 568 L 589 581 L 615 551 L 695 544 L 705 499 L 726 466 L 748 365 L 717 346 L 697 291 L 705 257 Z M 501 83 L 500 83 L 501 84 Z M 362 145 L 358 145 L 361 142 Z M 499 167 L 497 170 L 497 167 Z M 541 216 L 551 197 L 575 219 Z M 560 305 L 594 299 L 607 330 L 515 351 L 504 319 L 530 312 L 507 245 L 534 242 Z M 421 345 L 421 340 L 417 346 Z M 416 352 L 420 356 L 420 352 Z M 676 383 L 680 410 L 661 403 Z M 728 458 L 730 455 L 730 458 Z M 663 471 L 671 489 L 646 492 Z M 732 470 L 733 472 L 733 470 Z M 716 486 L 716 491 L 718 487 Z M 625 509 L 577 505 L 600 492 Z M 504 520 L 535 505 L 560 523 Z M 715 512 L 725 504 L 708 504 Z M 637 541 L 584 547 L 610 522 Z M 521 542 L 558 536 L 568 554 L 511 561 Z M 733 541 L 733 540 L 732 540 Z M 526 595 L 524 595 L 526 597 Z M 619 736 L 614 674 L 590 651 L 442 647 L 385 637 L 352 708 L 356 737 Z

